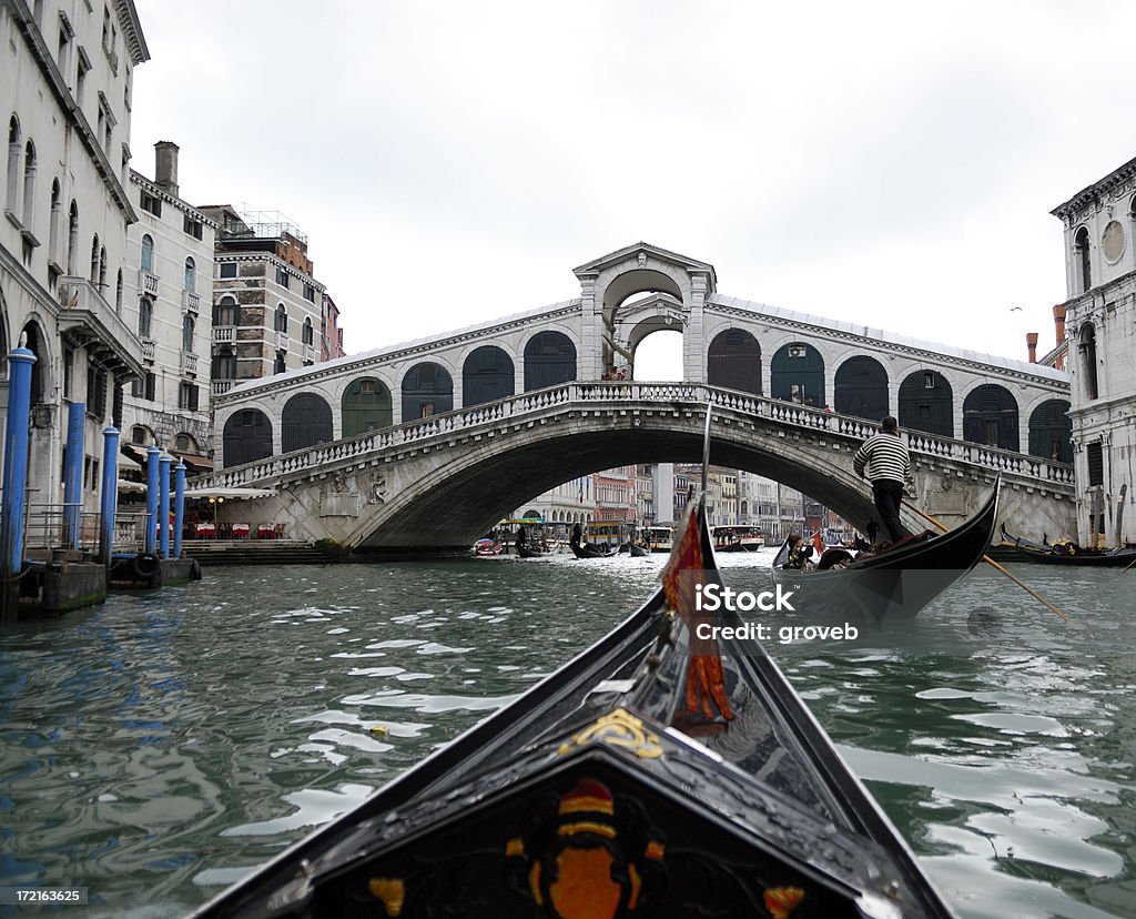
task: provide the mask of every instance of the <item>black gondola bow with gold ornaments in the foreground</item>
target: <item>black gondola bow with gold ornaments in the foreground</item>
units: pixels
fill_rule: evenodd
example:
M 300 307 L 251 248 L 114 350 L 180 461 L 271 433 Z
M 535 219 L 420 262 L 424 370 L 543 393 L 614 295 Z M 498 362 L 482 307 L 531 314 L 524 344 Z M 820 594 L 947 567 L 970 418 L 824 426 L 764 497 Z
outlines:
M 704 637 L 742 623 L 693 619 L 687 526 L 623 625 L 195 916 L 952 916 L 761 646 Z

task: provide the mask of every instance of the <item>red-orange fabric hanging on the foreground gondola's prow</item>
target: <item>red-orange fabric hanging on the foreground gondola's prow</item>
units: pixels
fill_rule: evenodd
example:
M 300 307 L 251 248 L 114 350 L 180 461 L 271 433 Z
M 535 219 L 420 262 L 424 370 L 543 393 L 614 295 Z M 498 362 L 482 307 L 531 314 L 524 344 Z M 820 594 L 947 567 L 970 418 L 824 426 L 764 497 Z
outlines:
M 699 527 L 698 509 L 692 506 L 682 535 L 675 541 L 670 560 L 663 569 L 662 592 L 667 598 L 667 605 L 683 618 L 691 634 L 693 653 L 686 671 L 686 710 L 701 711 L 707 718 L 721 715 L 730 721 L 734 719 L 734 712 L 726 696 L 726 675 L 721 667 L 718 642 L 715 638 L 699 637 L 696 629 L 698 623 L 704 621 L 704 618 L 695 615 L 694 588 L 704 580 L 702 575 L 704 569 L 702 532 Z

